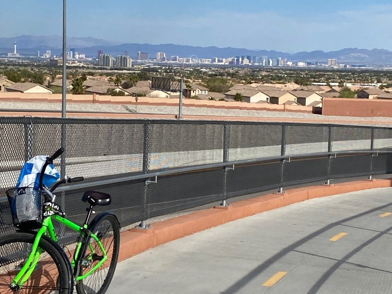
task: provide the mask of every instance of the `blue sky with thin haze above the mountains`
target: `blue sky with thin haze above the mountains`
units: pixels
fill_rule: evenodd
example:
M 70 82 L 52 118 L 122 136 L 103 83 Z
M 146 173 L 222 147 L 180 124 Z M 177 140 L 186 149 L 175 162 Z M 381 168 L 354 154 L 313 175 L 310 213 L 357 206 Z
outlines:
M 62 0 L 8 0 L 0 37 L 62 35 Z M 67 36 L 294 53 L 392 50 L 392 0 L 67 0 Z

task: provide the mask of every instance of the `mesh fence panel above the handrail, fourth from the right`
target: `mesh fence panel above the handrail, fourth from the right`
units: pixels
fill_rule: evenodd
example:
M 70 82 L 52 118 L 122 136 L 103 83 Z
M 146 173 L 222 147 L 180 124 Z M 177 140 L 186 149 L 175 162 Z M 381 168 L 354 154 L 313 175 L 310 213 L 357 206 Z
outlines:
M 282 125 L 232 124 L 228 161 L 280 156 Z

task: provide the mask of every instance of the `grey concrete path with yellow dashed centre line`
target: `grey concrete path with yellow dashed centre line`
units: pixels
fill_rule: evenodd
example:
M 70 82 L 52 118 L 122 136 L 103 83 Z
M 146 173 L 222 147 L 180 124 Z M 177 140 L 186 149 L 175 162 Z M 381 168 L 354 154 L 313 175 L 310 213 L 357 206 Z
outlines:
M 229 222 L 118 264 L 107 294 L 392 293 L 392 188 Z

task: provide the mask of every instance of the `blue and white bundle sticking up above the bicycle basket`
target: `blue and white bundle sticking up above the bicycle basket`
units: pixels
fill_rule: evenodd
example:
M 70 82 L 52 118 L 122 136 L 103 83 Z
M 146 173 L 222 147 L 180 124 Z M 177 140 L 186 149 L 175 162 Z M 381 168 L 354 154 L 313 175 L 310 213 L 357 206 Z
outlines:
M 42 166 L 46 161 L 47 156 L 45 155 L 37 155 L 31 158 L 29 161 L 25 162 L 21 173 L 19 174 L 18 183 L 16 187 L 31 187 L 38 188 L 39 187 L 39 179 L 41 174 Z M 52 164 L 49 164 L 45 170 L 45 174 L 42 180 L 42 183 L 49 187 L 60 177 L 59 173 L 53 167 Z

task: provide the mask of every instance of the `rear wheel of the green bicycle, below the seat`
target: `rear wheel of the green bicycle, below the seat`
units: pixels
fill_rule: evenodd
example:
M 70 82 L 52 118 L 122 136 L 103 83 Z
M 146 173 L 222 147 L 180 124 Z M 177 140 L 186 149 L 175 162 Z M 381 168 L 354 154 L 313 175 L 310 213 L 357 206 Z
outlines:
M 120 249 L 120 224 L 114 214 L 106 212 L 91 221 L 88 229 L 99 238 L 108 259 L 95 272 L 76 283 L 76 292 L 78 294 L 104 294 L 112 281 L 117 266 Z M 98 243 L 93 238 L 87 237 L 81 251 L 82 259 L 88 259 L 92 255 L 89 248 L 90 242 L 95 252 L 100 251 Z M 78 263 L 79 275 L 90 270 L 97 262 L 98 260 L 93 261 L 88 268 L 81 267 Z

